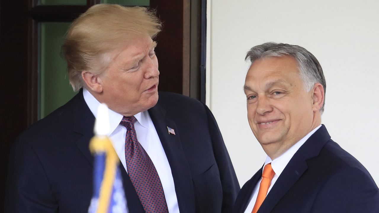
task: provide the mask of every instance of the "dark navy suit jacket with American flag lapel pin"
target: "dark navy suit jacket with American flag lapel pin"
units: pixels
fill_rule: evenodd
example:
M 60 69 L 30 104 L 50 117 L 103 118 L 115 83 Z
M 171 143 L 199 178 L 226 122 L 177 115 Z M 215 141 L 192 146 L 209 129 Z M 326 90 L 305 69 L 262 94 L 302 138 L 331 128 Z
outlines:
M 180 212 L 230 212 L 240 186 L 209 109 L 189 97 L 160 92 L 149 114 L 171 167 Z M 88 211 L 94 121 L 80 91 L 19 136 L 10 153 L 5 212 Z M 167 127 L 176 135 L 169 135 Z M 143 213 L 120 168 L 129 213 Z

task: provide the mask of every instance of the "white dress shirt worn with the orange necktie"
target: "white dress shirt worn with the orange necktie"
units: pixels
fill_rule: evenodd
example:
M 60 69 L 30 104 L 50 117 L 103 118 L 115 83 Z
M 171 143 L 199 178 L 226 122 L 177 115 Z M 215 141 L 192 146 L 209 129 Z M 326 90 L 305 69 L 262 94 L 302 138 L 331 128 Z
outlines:
M 288 162 L 290 162 L 293 155 L 299 150 L 299 148 L 305 143 L 305 141 L 307 141 L 307 139 L 311 135 L 313 135 L 313 133 L 315 133 L 320 127 L 321 127 L 321 125 L 314 128 L 310 133 L 305 135 L 304 138 L 302 138 L 298 143 L 291 146 L 290 149 L 285 151 L 282 155 L 280 155 L 276 159 L 271 160 L 270 157 L 268 157 L 268 156 L 266 157 L 266 161 L 265 161 L 265 164 L 263 165 L 263 167 L 266 166 L 266 164 L 271 163 L 271 167 L 273 168 L 273 170 L 275 172 L 275 175 L 270 182 L 270 187 L 268 188 L 267 194 L 270 192 L 271 188 L 273 188 L 276 180 L 278 179 L 280 174 L 282 174 L 284 168 L 287 166 Z M 247 205 L 245 213 L 251 213 L 251 211 L 253 210 L 254 205 L 255 205 L 255 201 L 257 200 L 257 196 L 258 196 L 258 192 L 259 192 L 259 186 L 260 186 L 261 181 L 262 181 L 262 177 L 257 182 L 257 184 L 255 185 L 255 188 L 253 190 L 253 194 L 250 197 L 249 205 Z

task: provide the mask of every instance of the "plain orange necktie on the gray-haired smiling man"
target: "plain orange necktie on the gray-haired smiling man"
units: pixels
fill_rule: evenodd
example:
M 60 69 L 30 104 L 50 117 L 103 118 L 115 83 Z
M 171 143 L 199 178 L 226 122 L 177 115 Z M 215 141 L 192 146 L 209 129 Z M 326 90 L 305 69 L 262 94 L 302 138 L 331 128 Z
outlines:
M 271 167 L 271 163 L 267 164 L 265 168 L 263 168 L 262 181 L 259 186 L 257 201 L 255 201 L 255 205 L 251 213 L 257 213 L 259 207 L 263 203 L 263 200 L 265 200 L 268 188 L 270 188 L 271 179 L 273 179 L 274 174 L 275 172 Z

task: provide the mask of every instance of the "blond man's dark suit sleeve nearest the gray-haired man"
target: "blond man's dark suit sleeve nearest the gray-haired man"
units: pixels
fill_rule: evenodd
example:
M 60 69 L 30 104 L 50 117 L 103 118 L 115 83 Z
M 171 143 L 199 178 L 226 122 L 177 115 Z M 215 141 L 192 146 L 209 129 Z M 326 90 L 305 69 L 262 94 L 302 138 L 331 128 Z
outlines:
M 206 107 L 206 106 L 205 106 Z M 211 134 L 213 152 L 220 172 L 220 179 L 222 185 L 222 210 L 221 212 L 232 212 L 235 199 L 240 185 L 230 160 L 229 153 L 225 147 L 224 140 L 222 139 L 221 132 L 216 123 L 215 117 L 206 107 L 209 129 Z

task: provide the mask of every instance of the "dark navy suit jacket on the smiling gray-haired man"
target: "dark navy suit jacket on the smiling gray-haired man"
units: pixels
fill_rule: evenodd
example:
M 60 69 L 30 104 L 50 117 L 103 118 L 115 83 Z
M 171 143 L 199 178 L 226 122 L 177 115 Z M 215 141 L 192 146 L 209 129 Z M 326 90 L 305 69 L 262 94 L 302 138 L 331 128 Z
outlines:
M 262 168 L 242 187 L 233 213 L 245 211 L 261 175 Z M 324 125 L 294 154 L 257 213 L 308 212 L 379 212 L 379 189 L 371 175 L 330 139 Z

